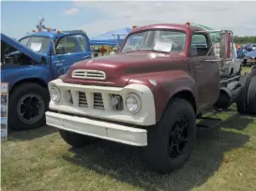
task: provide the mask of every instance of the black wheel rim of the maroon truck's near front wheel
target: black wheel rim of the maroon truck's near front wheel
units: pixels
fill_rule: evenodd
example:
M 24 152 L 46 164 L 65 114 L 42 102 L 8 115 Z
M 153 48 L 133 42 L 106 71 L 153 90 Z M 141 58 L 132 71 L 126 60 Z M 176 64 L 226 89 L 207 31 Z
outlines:
M 170 133 L 168 154 L 170 158 L 177 158 L 184 152 L 188 143 L 188 119 L 181 117 L 173 125 Z

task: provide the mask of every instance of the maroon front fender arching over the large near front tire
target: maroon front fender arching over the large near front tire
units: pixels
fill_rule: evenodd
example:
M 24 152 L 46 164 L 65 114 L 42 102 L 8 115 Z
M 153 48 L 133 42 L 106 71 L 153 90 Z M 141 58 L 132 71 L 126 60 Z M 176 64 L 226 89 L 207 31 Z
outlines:
M 173 70 L 133 76 L 128 81 L 128 84 L 132 83 L 142 83 L 151 89 L 155 100 L 156 122 L 160 120 L 173 95 L 186 91 L 197 97 L 195 81 L 185 71 Z

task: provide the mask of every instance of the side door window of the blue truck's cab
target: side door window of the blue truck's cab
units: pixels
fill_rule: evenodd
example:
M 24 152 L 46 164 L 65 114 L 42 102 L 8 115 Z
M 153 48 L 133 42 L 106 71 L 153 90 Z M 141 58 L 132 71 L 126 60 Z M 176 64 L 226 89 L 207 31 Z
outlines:
M 62 37 L 56 47 L 57 54 L 83 52 L 86 49 L 86 38 L 82 35 Z

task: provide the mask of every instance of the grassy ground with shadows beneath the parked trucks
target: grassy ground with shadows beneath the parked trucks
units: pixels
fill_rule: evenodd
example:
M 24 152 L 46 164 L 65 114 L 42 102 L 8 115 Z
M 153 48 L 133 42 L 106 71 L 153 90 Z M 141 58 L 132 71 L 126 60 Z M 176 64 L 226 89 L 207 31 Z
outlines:
M 256 190 L 256 117 L 235 108 L 218 129 L 199 131 L 182 169 L 159 175 L 142 150 L 108 141 L 71 149 L 55 129 L 13 132 L 1 145 L 2 191 Z

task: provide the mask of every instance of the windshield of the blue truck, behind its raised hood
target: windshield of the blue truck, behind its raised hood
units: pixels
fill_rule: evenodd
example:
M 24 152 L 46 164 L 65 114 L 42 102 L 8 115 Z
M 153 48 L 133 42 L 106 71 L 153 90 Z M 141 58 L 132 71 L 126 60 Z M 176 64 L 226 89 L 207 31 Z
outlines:
M 25 37 L 20 40 L 20 43 L 33 51 L 45 53 L 48 50 L 50 41 L 49 37 Z

